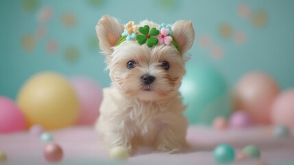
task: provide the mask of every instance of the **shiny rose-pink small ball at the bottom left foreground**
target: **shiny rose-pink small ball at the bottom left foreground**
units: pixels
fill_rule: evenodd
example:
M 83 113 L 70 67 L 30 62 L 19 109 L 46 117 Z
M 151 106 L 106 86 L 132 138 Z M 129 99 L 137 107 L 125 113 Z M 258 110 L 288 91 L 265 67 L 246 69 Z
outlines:
M 48 162 L 59 162 L 62 159 L 62 148 L 55 143 L 50 143 L 45 146 L 44 157 Z

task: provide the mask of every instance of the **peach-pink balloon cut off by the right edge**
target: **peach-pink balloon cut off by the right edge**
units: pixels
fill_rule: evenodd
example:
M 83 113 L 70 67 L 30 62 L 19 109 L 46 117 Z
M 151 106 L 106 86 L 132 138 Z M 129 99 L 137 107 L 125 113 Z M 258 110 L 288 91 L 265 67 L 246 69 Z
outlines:
M 288 89 L 273 102 L 271 111 L 273 124 L 283 124 L 294 129 L 294 89 Z

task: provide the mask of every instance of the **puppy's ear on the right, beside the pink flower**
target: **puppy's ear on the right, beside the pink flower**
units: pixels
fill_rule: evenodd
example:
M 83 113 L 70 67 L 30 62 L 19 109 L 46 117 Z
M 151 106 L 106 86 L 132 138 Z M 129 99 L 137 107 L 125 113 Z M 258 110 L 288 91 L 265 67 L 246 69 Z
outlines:
M 176 21 L 172 27 L 173 37 L 180 46 L 182 54 L 185 54 L 189 50 L 195 39 L 195 32 L 191 21 Z

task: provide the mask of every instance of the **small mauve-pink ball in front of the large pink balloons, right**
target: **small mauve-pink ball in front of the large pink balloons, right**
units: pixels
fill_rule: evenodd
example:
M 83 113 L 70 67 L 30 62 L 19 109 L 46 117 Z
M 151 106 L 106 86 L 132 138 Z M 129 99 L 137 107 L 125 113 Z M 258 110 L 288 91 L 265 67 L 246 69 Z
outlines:
M 250 116 L 245 111 L 236 111 L 230 117 L 230 127 L 243 129 L 252 125 Z

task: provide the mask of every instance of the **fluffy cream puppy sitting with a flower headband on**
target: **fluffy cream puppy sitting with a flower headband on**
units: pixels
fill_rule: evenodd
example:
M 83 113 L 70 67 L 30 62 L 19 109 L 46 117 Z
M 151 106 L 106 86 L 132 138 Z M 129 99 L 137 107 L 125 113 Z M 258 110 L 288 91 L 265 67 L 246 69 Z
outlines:
M 96 25 L 112 85 L 103 89 L 95 129 L 108 149 L 140 145 L 175 153 L 186 144 L 186 106 L 178 91 L 195 33 L 191 21 L 172 26 L 103 16 Z

